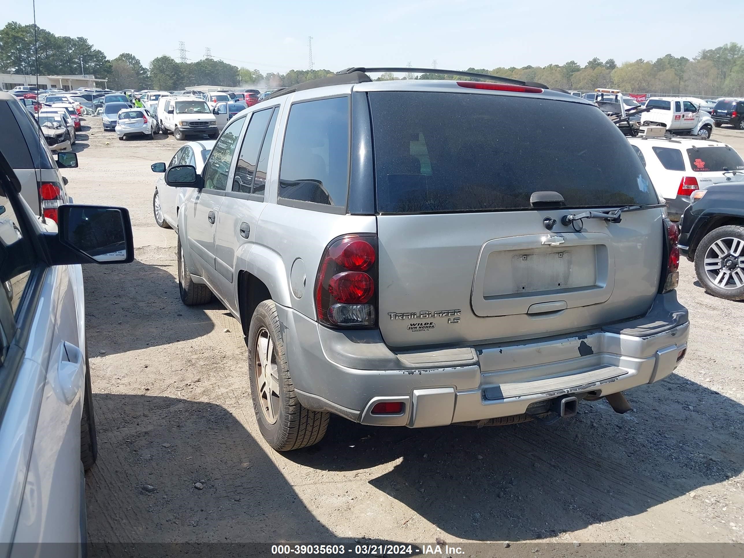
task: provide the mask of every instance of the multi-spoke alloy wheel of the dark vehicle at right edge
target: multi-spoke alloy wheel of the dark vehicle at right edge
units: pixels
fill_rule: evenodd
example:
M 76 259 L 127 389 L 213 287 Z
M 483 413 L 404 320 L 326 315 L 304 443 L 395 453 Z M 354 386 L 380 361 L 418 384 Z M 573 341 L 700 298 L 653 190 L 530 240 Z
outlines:
M 744 257 L 744 250 L 741 245 L 736 241 L 744 244 L 744 227 L 737 225 L 726 225 L 725 227 L 719 227 L 713 229 L 713 231 L 703 237 L 699 245 L 695 249 L 695 274 L 697 275 L 700 284 L 705 287 L 705 290 L 711 293 L 711 295 L 718 298 L 725 298 L 727 301 L 741 301 L 744 300 L 744 284 L 736 286 L 736 277 L 740 283 L 744 283 L 744 269 L 741 266 L 737 266 L 732 269 L 731 275 L 720 275 L 721 272 L 725 271 L 726 260 L 739 260 L 740 257 Z M 716 245 L 714 248 L 713 245 Z M 722 250 L 720 247 L 728 249 L 739 248 L 739 254 L 735 257 L 728 255 L 721 256 Z M 736 250 L 734 250 L 736 253 Z M 709 259 L 709 265 L 716 266 L 720 265 L 719 268 L 705 269 L 705 260 Z M 715 260 L 720 260 L 716 263 Z M 734 276 L 734 273 L 736 275 Z M 712 277 L 711 277 L 712 275 Z M 723 285 L 720 286 L 715 283 L 716 278 L 721 277 Z M 733 283 L 731 283 L 733 281 Z M 731 284 L 729 284 L 731 283 Z M 728 289 L 725 288 L 728 286 Z

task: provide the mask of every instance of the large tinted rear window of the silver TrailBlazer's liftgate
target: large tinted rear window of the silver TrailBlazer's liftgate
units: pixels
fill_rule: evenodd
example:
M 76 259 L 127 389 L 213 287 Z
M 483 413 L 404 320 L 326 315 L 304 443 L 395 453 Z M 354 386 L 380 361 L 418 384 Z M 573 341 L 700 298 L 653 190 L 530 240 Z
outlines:
M 640 159 L 594 106 L 495 94 L 371 92 L 377 209 L 449 213 L 655 204 Z

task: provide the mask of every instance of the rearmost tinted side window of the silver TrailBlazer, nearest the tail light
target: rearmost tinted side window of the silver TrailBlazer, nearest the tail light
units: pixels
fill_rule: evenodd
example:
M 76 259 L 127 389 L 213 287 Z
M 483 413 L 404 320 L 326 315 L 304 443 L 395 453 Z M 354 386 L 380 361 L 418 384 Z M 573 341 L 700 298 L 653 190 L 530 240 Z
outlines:
M 289 111 L 279 197 L 345 207 L 349 186 L 349 98 L 296 103 Z

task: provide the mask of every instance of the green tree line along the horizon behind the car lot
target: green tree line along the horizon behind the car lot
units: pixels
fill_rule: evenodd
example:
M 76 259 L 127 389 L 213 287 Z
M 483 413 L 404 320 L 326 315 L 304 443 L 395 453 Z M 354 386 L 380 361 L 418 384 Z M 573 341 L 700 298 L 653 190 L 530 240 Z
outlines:
M 36 73 L 33 25 L 10 22 L 0 29 L 0 73 Z M 238 68 L 222 60 L 176 62 L 163 55 L 145 66 L 134 55 L 122 53 L 108 60 L 84 37 L 57 36 L 36 28 L 39 74 L 86 74 L 109 79 L 111 89 L 184 89 L 188 86 L 291 87 L 307 80 L 327 77 L 329 70 L 290 70 L 286 74 Z M 545 83 L 562 89 L 591 91 L 614 87 L 629 93 L 686 93 L 704 96 L 744 97 L 744 48 L 731 42 L 718 48 L 703 49 L 693 57 L 666 54 L 656 60 L 635 60 L 618 65 L 612 58 L 604 62 L 592 58 L 586 65 L 575 60 L 565 64 L 527 65 L 522 68 L 468 68 L 467 71 Z M 397 79 L 382 74 L 378 80 Z M 458 79 L 443 74 L 422 74 L 419 79 Z M 462 79 L 462 78 L 461 78 Z M 466 79 L 466 78 L 464 78 Z

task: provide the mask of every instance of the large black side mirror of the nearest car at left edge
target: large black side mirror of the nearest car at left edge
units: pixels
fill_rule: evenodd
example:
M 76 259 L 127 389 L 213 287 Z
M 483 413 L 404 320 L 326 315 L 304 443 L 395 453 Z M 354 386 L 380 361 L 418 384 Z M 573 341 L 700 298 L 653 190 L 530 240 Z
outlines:
M 125 208 L 103 205 L 60 205 L 58 234 L 50 234 L 60 246 L 51 246 L 55 264 L 129 263 L 135 259 L 132 222 Z

